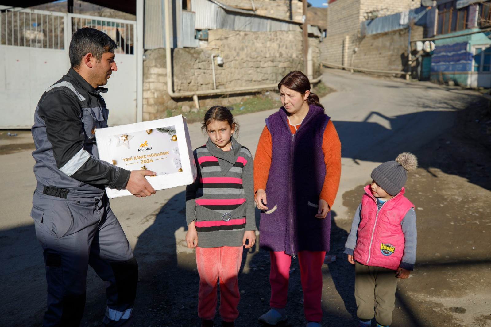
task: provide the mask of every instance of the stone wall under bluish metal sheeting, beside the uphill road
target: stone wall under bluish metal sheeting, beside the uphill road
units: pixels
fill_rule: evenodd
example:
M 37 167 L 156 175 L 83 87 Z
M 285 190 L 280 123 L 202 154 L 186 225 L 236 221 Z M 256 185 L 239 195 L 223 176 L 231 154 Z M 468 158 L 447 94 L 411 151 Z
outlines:
M 353 55 L 353 67 L 406 71 L 408 62 L 408 28 L 367 35 Z M 423 38 L 424 28 L 413 26 L 411 39 Z M 412 53 L 414 54 L 414 53 Z M 351 60 L 351 58 L 350 58 Z

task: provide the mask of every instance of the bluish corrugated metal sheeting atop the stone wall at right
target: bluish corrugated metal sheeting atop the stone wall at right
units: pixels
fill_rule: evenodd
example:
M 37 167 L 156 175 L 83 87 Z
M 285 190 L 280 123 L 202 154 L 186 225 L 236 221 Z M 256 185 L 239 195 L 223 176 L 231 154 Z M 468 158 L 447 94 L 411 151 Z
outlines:
M 409 10 L 409 22 L 414 21 L 416 25 L 425 25 L 427 12 L 428 9 L 425 7 Z M 360 28 L 366 35 L 370 35 L 408 27 L 407 24 L 400 24 L 400 19 L 401 13 L 378 17 L 361 22 Z

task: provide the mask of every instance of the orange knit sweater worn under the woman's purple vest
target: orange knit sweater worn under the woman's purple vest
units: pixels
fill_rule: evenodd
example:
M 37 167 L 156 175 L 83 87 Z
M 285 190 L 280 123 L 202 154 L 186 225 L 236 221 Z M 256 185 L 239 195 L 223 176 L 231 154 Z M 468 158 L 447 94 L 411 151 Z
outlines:
M 295 134 L 296 127 L 298 128 L 300 124 L 293 126 L 288 122 L 288 125 L 292 134 Z M 254 192 L 259 189 L 266 190 L 266 182 L 268 181 L 271 166 L 271 148 L 271 133 L 268 127 L 265 126 L 259 137 L 256 155 L 254 156 Z M 326 164 L 326 177 L 324 178 L 324 186 L 319 199 L 326 200 L 330 210 L 336 198 L 341 178 L 341 142 L 331 120 L 329 120 L 324 130 L 322 151 L 324 152 L 324 163 Z

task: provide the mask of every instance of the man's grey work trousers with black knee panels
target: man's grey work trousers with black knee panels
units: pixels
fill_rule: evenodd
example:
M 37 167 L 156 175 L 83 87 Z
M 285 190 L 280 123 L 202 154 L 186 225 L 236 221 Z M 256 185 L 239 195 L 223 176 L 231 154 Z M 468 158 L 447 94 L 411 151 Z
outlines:
M 79 326 L 85 305 L 88 265 L 107 281 L 104 326 L 129 326 L 136 296 L 138 265 L 109 199 L 67 198 L 42 193 L 32 198 L 31 217 L 43 247 L 48 305 L 43 326 Z

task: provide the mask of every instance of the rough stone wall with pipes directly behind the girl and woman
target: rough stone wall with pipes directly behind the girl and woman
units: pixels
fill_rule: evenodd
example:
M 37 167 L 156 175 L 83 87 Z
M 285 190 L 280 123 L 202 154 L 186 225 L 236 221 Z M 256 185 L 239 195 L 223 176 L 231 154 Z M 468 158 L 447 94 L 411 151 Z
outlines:
M 319 39 L 309 38 L 314 77 L 320 75 Z M 206 48 L 173 49 L 174 92 L 211 90 L 212 54 L 221 54 L 223 65 L 215 62 L 217 89 L 278 83 L 292 70 L 303 71 L 302 32 L 245 32 L 209 30 Z M 168 111 L 194 107 L 192 98 L 174 98 L 167 93 L 165 49 L 148 50 L 143 62 L 143 120 L 164 118 Z M 203 96 L 201 108 L 244 101 L 250 94 Z M 219 99 L 219 100 L 218 100 Z M 219 101 L 219 103 L 217 103 Z

